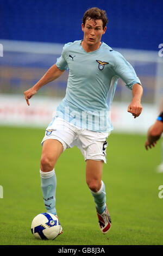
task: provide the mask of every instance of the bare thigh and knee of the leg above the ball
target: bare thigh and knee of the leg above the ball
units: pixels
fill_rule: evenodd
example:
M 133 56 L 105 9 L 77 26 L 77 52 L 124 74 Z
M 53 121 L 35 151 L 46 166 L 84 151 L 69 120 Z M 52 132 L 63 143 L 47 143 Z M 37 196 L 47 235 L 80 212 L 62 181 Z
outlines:
M 63 150 L 62 143 L 57 139 L 46 139 L 42 146 L 41 167 L 54 167 Z

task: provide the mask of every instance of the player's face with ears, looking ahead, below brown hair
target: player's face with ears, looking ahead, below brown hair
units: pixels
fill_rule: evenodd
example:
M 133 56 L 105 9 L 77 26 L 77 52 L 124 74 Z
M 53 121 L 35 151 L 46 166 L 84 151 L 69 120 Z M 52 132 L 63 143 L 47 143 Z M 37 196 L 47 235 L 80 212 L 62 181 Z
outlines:
M 105 34 L 106 27 L 103 29 L 103 21 L 86 20 L 85 26 L 82 23 L 82 31 L 84 32 L 84 41 L 87 45 L 98 45 L 101 42 L 102 35 Z

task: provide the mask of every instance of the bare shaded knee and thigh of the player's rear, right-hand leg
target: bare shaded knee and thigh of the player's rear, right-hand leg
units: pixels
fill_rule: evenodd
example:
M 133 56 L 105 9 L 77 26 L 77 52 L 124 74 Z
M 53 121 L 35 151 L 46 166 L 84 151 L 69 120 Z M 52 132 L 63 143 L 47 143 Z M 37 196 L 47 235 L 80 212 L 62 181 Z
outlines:
M 86 183 L 91 190 L 101 188 L 103 161 L 86 160 Z

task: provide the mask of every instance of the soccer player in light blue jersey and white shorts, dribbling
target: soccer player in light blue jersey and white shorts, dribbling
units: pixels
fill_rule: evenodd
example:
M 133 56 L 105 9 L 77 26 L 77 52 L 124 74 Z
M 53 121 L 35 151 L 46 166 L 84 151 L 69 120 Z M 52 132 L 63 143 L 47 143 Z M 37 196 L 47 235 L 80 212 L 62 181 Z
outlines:
M 99 228 L 103 234 L 111 226 L 102 170 L 103 163 L 106 163 L 106 138 L 113 129 L 110 107 L 118 78 L 122 78 L 132 92 L 128 112 L 134 118 L 141 114 L 143 92 L 133 67 L 120 53 L 101 41 L 107 23 L 104 10 L 87 10 L 82 23 L 83 40 L 67 43 L 57 63 L 24 92 L 29 105 L 29 99 L 42 86 L 69 69 L 66 95 L 42 140 L 40 175 L 43 200 L 47 212 L 57 215 L 54 167 L 61 153 L 76 145 L 86 161 L 86 183 L 95 200 Z

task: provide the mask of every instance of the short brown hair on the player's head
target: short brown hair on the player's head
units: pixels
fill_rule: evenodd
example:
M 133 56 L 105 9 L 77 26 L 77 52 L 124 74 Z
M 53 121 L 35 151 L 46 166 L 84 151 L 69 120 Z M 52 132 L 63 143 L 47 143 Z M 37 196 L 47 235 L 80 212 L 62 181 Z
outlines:
M 86 20 L 91 20 L 93 19 L 96 23 L 96 20 L 102 20 L 103 21 L 103 29 L 106 26 L 106 24 L 108 23 L 108 18 L 106 16 L 106 12 L 105 10 L 101 10 L 97 7 L 93 7 L 88 9 L 84 16 L 83 16 L 83 25 L 85 26 L 85 22 Z

